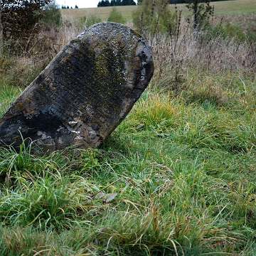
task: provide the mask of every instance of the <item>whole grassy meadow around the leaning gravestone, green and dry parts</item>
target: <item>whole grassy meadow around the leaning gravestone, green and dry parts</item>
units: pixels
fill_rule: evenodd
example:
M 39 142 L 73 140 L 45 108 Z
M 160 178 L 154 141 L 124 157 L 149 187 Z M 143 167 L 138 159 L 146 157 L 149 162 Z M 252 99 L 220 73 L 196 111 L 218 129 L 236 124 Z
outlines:
M 0 115 L 81 32 L 62 11 L 30 54 L 0 51 Z M 0 255 L 255 255 L 256 42 L 190 26 L 149 41 L 149 87 L 100 148 L 0 148 Z

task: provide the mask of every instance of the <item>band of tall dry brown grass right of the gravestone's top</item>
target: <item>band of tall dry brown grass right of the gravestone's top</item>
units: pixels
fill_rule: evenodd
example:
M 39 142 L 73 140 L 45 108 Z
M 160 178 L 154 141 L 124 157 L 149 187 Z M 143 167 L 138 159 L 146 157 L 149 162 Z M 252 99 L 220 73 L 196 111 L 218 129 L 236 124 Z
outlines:
M 177 41 L 159 38 L 153 42 L 156 60 L 165 63 L 161 65 L 178 62 L 186 66 L 190 63 L 193 68 L 203 68 L 212 73 L 236 68 L 255 70 L 256 48 L 253 44 L 238 43 L 236 38 L 212 37 L 207 31 L 191 33 L 190 26 L 182 18 L 181 34 Z M 178 70 L 182 70 L 182 67 Z

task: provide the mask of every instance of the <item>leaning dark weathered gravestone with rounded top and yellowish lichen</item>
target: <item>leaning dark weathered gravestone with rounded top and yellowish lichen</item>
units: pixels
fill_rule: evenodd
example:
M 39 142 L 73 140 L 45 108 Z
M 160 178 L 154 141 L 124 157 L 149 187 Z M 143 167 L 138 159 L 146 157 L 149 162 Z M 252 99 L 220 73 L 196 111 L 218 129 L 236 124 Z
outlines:
M 0 144 L 30 138 L 43 151 L 99 146 L 132 109 L 154 72 L 149 45 L 119 23 L 74 38 L 0 119 Z

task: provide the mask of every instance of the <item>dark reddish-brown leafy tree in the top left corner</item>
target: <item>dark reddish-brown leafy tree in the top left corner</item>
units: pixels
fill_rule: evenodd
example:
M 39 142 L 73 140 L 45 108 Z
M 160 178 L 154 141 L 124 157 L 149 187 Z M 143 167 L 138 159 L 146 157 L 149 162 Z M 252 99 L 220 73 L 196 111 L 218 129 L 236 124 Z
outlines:
M 40 29 L 44 6 L 51 0 L 1 0 L 0 33 L 11 46 L 28 50 Z M 15 50 L 15 48 L 14 48 Z

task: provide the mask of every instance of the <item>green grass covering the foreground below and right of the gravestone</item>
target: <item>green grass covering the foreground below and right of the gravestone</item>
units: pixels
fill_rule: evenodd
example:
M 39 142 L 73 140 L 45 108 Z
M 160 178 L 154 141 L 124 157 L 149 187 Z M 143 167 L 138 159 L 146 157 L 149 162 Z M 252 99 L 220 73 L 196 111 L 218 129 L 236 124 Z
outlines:
M 100 149 L 2 150 L 1 255 L 253 255 L 254 123 L 146 90 Z

